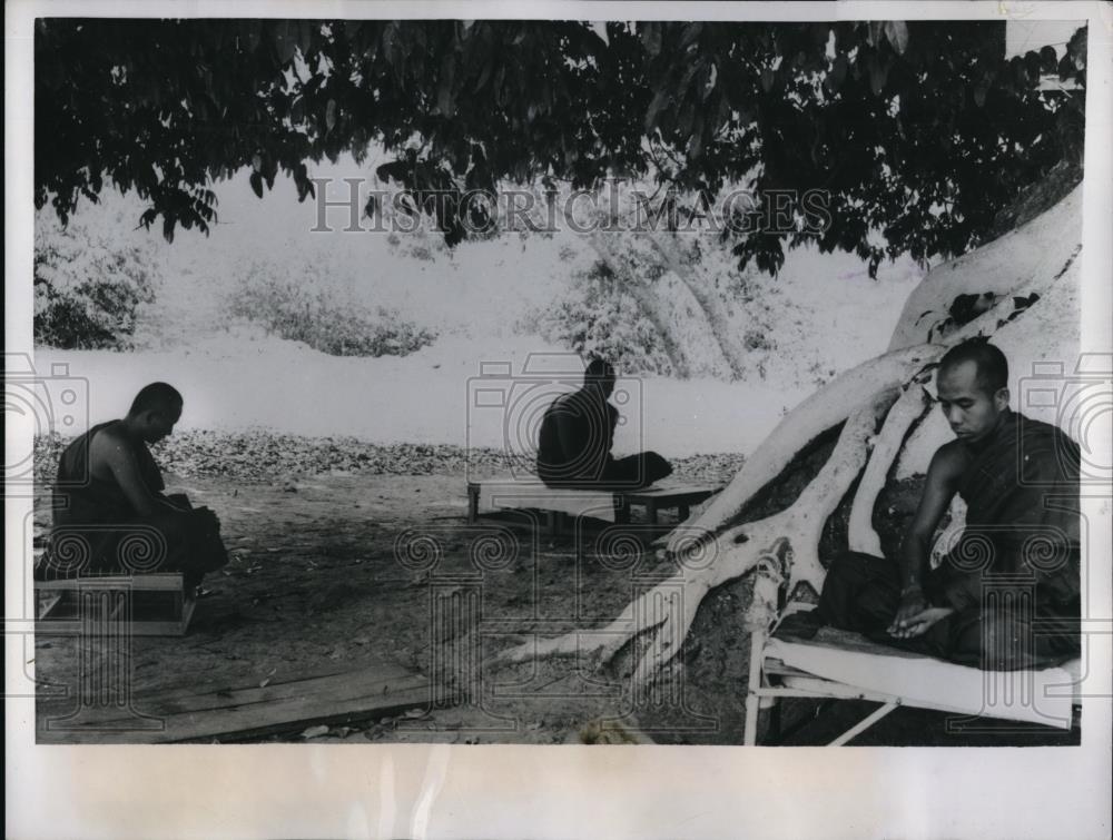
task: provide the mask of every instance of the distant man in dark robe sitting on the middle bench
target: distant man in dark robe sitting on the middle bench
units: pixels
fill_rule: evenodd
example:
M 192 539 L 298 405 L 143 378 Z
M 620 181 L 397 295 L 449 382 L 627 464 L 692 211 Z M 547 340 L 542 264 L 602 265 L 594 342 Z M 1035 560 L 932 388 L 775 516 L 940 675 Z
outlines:
M 583 387 L 556 397 L 541 421 L 538 475 L 550 487 L 638 490 L 672 473 L 656 452 L 614 458 L 611 446 L 619 412 L 608 399 L 614 391 L 614 368 L 592 359 Z

